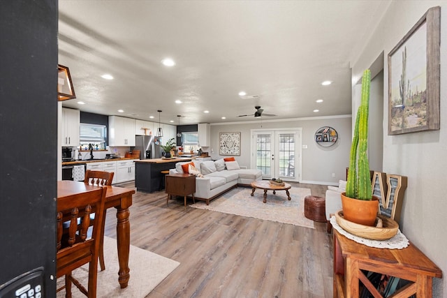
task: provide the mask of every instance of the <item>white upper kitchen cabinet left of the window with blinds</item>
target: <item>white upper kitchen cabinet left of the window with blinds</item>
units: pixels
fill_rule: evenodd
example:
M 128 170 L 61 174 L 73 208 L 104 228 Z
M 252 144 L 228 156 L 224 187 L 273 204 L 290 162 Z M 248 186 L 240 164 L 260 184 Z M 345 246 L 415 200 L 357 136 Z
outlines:
M 80 111 L 62 108 L 61 146 L 79 146 Z

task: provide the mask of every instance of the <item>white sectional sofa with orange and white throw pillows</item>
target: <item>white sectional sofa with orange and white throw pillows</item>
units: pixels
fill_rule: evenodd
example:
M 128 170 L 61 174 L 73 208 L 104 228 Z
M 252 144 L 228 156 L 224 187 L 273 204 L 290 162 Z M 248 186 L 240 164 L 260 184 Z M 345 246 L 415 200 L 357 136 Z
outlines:
M 182 165 L 187 163 L 191 162 L 176 163 L 175 169 L 169 170 L 169 173 L 183 173 Z M 193 164 L 203 174 L 203 177 L 196 177 L 194 198 L 204 200 L 207 204 L 231 188 L 249 186 L 252 181 L 262 179 L 261 170 L 247 169 L 237 165 L 237 162 L 223 161 L 223 158 L 217 161 L 193 161 Z

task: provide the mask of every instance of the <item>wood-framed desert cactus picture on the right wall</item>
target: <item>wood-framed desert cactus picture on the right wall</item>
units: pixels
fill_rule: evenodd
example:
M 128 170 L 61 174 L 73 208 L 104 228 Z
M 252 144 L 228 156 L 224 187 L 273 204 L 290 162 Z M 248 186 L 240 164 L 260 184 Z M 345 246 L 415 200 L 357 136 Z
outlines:
M 441 8 L 430 8 L 388 54 L 388 135 L 439 130 Z

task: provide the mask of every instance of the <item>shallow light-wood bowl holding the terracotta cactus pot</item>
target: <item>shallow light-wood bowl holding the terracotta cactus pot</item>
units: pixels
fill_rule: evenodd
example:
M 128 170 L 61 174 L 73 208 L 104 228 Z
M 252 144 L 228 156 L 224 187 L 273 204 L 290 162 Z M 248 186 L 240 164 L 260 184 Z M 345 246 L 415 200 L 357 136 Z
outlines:
M 391 218 L 377 214 L 376 226 L 360 225 L 343 218 L 343 210 L 335 213 L 335 219 L 340 227 L 358 237 L 372 240 L 388 240 L 393 238 L 399 230 L 399 224 Z

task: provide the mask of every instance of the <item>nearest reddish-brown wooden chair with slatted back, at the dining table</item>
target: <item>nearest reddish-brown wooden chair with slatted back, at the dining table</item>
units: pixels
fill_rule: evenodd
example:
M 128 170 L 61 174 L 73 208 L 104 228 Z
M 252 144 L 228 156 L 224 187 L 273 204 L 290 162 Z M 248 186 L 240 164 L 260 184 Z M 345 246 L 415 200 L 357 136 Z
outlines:
M 71 297 L 71 283 L 87 297 L 96 297 L 99 239 L 103 221 L 94 221 L 91 238 L 87 238 L 87 230 L 91 222 L 91 212 L 94 211 L 100 218 L 103 216 L 106 191 L 107 188 L 103 187 L 57 200 L 56 276 L 65 276 L 65 286 L 57 291 L 65 288 L 66 297 Z M 64 228 L 63 223 L 66 222 L 69 223 L 68 228 Z M 74 269 L 87 263 L 88 290 L 71 274 Z

